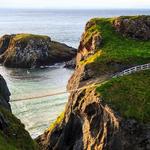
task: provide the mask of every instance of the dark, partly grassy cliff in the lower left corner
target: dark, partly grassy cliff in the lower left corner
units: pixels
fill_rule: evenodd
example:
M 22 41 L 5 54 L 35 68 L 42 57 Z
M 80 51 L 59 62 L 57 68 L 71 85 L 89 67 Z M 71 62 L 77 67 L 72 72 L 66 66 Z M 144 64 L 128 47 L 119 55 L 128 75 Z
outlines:
M 0 150 L 38 150 L 24 125 L 11 112 L 10 92 L 0 76 Z

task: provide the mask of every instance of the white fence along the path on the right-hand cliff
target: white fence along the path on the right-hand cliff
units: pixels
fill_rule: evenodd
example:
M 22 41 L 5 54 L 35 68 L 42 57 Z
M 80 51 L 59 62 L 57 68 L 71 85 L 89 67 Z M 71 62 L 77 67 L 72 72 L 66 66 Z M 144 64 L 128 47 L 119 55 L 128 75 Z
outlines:
M 123 71 L 121 71 L 119 73 L 116 73 L 112 77 L 116 78 L 116 77 L 120 77 L 120 76 L 124 76 L 124 75 L 129 75 L 129 74 L 132 74 L 134 72 L 138 72 L 138 71 L 141 71 L 141 70 L 148 70 L 148 69 L 150 69 L 150 63 L 144 64 L 144 65 L 134 66 L 132 68 L 123 70 Z

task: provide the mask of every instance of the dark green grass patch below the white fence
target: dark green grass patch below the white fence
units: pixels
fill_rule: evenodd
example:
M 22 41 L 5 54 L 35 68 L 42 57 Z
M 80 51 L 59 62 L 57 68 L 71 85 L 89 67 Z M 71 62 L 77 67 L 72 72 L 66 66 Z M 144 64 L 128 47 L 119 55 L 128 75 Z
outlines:
M 114 78 L 97 88 L 113 110 L 125 118 L 150 123 L 150 70 Z

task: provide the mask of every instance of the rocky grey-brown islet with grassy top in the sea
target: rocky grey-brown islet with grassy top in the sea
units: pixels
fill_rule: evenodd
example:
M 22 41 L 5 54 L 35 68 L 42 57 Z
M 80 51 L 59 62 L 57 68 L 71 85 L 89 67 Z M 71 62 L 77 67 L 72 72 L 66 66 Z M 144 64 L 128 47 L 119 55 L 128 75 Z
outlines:
M 32 68 L 71 60 L 76 50 L 51 41 L 48 36 L 4 35 L 0 39 L 0 62 L 7 67 Z

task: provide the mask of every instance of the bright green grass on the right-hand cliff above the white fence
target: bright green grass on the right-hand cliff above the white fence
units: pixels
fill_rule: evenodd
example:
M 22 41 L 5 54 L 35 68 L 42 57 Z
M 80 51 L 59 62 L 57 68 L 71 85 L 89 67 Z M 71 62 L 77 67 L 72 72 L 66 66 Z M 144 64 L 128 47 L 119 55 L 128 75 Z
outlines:
M 134 16 L 131 17 L 131 19 L 136 18 Z M 150 61 L 150 40 L 141 41 L 123 37 L 115 31 L 112 25 L 114 20 L 115 18 L 92 19 L 91 21 L 95 25 L 86 31 L 85 43 L 97 33 L 100 33 L 103 38 L 103 43 L 98 48 L 98 50 L 102 51 L 102 54 L 91 64 L 93 70 L 97 69 L 97 72 L 103 73 L 116 72 L 118 68 L 111 64 L 130 66 L 148 63 Z M 86 60 L 85 63 L 88 63 L 88 61 Z

